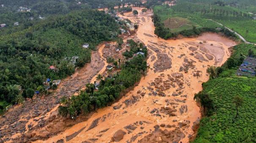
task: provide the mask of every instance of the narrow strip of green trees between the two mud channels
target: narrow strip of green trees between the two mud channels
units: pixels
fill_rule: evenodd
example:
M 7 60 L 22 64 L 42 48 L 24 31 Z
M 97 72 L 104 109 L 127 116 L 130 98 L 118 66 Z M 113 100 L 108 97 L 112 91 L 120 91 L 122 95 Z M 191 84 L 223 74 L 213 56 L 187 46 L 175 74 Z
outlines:
M 140 49 L 142 43 L 137 44 L 133 40 L 129 41 L 130 52 L 135 53 L 134 49 Z M 63 97 L 58 113 L 63 117 L 75 119 L 76 116 L 88 115 L 98 108 L 103 108 L 119 99 L 128 89 L 140 81 L 140 78 L 147 70 L 146 48 L 143 49 L 145 55 L 134 56 L 120 66 L 120 72 L 103 79 L 101 75 L 97 76 L 99 89 L 96 90 L 94 84 L 87 84 L 85 91 L 81 91 L 78 96 L 71 98 Z M 127 51 L 129 52 L 129 51 Z

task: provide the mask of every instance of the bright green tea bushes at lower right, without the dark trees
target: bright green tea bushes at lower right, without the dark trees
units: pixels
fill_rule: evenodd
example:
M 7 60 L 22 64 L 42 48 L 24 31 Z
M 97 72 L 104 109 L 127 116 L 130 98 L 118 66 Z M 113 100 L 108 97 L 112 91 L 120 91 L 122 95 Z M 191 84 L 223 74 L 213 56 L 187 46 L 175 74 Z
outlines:
M 234 47 L 234 59 L 246 56 L 248 49 L 256 52 L 253 45 L 240 44 Z M 225 67 L 226 64 L 224 64 Z M 203 84 L 203 92 L 210 95 L 215 105 L 212 116 L 201 119 L 194 143 L 241 143 L 256 130 L 256 78 L 236 76 L 236 68 L 227 69 Z M 244 103 L 236 115 L 234 96 L 239 95 Z

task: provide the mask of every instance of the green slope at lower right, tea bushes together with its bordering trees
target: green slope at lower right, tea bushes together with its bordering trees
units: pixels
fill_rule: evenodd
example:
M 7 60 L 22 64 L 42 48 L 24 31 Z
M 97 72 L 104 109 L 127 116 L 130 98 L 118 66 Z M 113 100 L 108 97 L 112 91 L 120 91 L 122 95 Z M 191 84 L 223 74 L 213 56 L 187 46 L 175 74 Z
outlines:
M 222 67 L 207 70 L 211 79 L 203 83 L 203 91 L 195 95 L 195 100 L 204 107 L 205 116 L 194 143 L 256 141 L 256 78 L 236 76 L 238 66 L 248 53 L 256 56 L 256 46 L 234 46 L 234 54 Z

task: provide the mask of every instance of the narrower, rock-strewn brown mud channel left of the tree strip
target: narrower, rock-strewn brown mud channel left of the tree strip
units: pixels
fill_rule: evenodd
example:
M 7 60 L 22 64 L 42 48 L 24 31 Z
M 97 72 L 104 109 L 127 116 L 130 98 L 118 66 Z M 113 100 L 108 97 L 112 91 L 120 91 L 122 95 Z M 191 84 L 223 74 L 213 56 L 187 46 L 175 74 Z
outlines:
M 104 45 L 104 44 L 102 44 Z M 100 49 L 102 49 L 100 45 Z M 59 99 L 63 96 L 71 96 L 80 91 L 85 84 L 101 72 L 105 67 L 105 62 L 101 59 L 98 51 L 92 51 L 91 63 L 75 71 L 75 73 L 61 81 L 57 91 L 47 96 L 36 96 L 25 101 L 23 105 L 14 106 L 4 116 L 0 118 L 0 137 L 4 140 L 19 138 L 29 130 L 44 127 L 46 120 L 59 105 Z

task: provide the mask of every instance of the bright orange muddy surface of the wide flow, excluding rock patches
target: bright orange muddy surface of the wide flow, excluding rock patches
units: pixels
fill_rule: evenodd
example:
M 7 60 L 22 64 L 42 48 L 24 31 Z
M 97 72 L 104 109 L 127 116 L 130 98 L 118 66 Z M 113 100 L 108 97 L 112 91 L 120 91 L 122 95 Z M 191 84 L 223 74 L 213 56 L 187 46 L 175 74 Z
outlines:
M 147 12 L 142 14 L 141 10 L 143 8 L 133 8 L 133 10 L 135 9 L 139 11 L 138 16 L 133 16 L 132 12 L 129 12 L 125 13 L 124 16 L 120 17 L 128 18 L 132 22 L 139 23 L 139 28 L 135 38 L 142 41 L 145 45 L 147 45 L 149 47 L 149 53 L 151 53 L 147 60 L 148 65 L 150 67 L 147 75 L 140 80 L 138 86 L 135 86 L 135 88 L 132 91 L 127 93 L 117 103 L 109 107 L 99 109 L 87 121 L 75 124 L 69 129 L 47 140 L 38 140 L 36 141 L 37 143 L 52 143 L 57 142 L 58 140 L 61 139 L 63 139 L 66 142 L 66 136 L 74 134 L 74 132 L 81 130 L 83 127 L 85 127 L 85 129 L 78 133 L 76 136 L 74 136 L 74 138 L 70 139 L 68 142 L 81 143 L 83 141 L 89 141 L 97 143 L 108 143 L 111 140 L 111 137 L 113 137 L 115 132 L 119 129 L 127 133 L 126 135 L 124 135 L 124 138 L 120 141 L 121 143 L 130 140 L 138 142 L 146 135 L 149 135 L 149 133 L 152 132 L 151 130 L 154 130 L 154 126 L 156 124 L 170 124 L 176 125 L 177 127 L 179 123 L 184 121 L 186 121 L 187 126 L 180 127 L 180 129 L 185 134 L 185 137 L 182 138 L 182 140 L 180 141 L 182 141 L 183 143 L 189 142 L 189 136 L 194 134 L 192 130 L 193 122 L 195 122 L 198 118 L 201 117 L 200 108 L 193 100 L 194 94 L 201 91 L 201 84 L 209 79 L 206 73 L 207 67 L 211 65 L 222 65 L 230 56 L 228 48 L 236 45 L 236 43 L 232 40 L 212 33 L 205 33 L 199 36 L 198 38 L 184 38 L 180 40 L 163 40 L 161 38 L 157 38 L 157 36 L 154 35 L 154 24 L 151 21 L 152 13 Z M 201 47 L 199 42 L 203 43 L 203 41 L 203 48 L 205 47 L 207 49 L 211 44 L 213 45 L 213 47 L 207 49 L 208 51 L 206 52 L 201 51 L 199 48 Z M 192 45 L 190 45 L 189 43 L 191 43 Z M 198 48 L 195 51 L 190 51 L 190 46 L 198 46 Z M 104 46 L 100 46 L 99 48 L 101 59 L 103 47 Z M 219 47 L 217 49 L 217 52 L 215 52 L 215 47 Z M 154 67 L 154 63 L 158 59 L 157 52 L 165 53 L 168 55 L 172 63 L 171 68 L 166 70 L 160 70 L 156 73 L 154 72 L 156 68 Z M 217 57 L 218 59 L 208 60 L 205 56 L 206 53 L 212 55 L 214 58 Z M 201 54 L 201 56 L 203 56 L 204 59 L 207 60 L 199 61 L 194 57 L 195 54 Z M 194 61 L 194 68 L 190 68 L 187 71 L 187 73 L 179 71 L 180 67 L 184 64 L 184 59 Z M 105 59 L 104 63 L 106 65 Z M 100 70 L 99 73 L 102 73 L 104 70 L 105 69 L 103 68 L 102 70 Z M 199 71 L 199 76 L 194 76 L 195 71 Z M 178 87 L 171 87 L 170 89 L 164 90 L 163 92 L 166 96 L 150 95 L 152 91 L 149 90 L 149 86 L 153 88 L 153 91 L 156 90 L 155 86 L 150 85 L 151 82 L 154 82 L 156 78 L 162 78 L 163 81 L 167 80 L 167 75 L 172 75 L 173 73 L 183 74 L 182 82 L 184 83 L 184 88 L 182 89 L 183 93 L 181 95 L 187 95 L 187 97 L 181 95 L 172 96 L 173 92 L 176 92 L 176 89 Z M 95 76 L 94 78 L 92 78 L 92 81 L 94 80 Z M 140 94 L 141 92 L 145 94 L 142 96 Z M 168 116 L 162 113 L 160 113 L 160 116 L 156 116 L 155 113 L 150 113 L 154 108 L 160 110 L 161 107 L 172 107 L 172 105 L 167 104 L 166 100 L 175 103 L 175 105 L 173 105 L 175 107 L 173 108 L 178 110 L 175 112 L 176 116 Z M 134 102 L 131 102 L 130 104 L 126 105 L 125 103 L 127 103 L 127 101 Z M 116 105 L 122 106 L 121 108 L 114 110 L 113 107 Z M 187 111 L 185 111 L 184 113 L 180 113 L 179 109 L 185 105 L 187 105 Z M 98 121 L 96 123 L 96 127 L 92 128 L 91 130 L 88 130 L 88 127 L 91 126 L 93 121 Z M 135 125 L 137 121 L 144 122 L 143 124 Z M 134 125 L 135 129 L 125 129 L 125 127 L 128 125 Z M 106 131 L 105 129 L 108 130 Z M 165 127 L 160 127 L 160 129 L 164 130 Z M 170 129 L 174 129 L 174 127 Z M 128 131 L 130 132 L 129 134 Z M 132 138 L 136 135 L 136 138 Z

